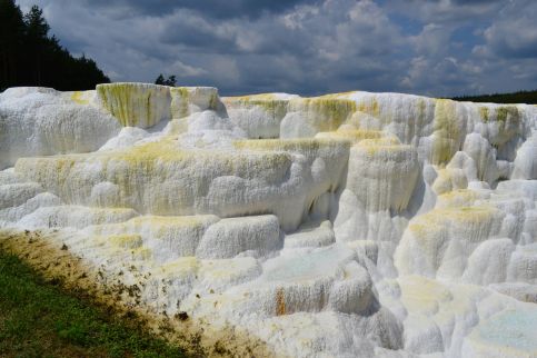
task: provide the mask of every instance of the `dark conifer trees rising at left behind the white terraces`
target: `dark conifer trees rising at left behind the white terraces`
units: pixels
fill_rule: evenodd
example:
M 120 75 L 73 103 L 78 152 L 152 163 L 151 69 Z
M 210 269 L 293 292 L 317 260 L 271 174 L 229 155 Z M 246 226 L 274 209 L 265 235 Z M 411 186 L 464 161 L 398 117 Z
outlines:
M 110 82 L 92 59 L 71 56 L 49 30 L 39 7 L 23 14 L 13 0 L 0 0 L 0 91 L 17 86 L 86 90 Z

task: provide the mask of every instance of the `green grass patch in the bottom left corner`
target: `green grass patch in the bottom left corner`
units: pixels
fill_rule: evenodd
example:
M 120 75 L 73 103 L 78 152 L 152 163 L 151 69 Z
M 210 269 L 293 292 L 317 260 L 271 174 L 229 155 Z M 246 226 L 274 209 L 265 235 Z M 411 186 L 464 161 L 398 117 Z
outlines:
M 0 251 L 0 357 L 186 357 Z

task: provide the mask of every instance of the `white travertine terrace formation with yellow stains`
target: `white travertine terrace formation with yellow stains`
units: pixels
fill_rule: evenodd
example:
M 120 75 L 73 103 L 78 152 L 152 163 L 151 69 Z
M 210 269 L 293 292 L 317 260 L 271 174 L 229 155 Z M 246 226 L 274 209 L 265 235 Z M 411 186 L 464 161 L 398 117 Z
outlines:
M 537 107 L 0 93 L 0 228 L 292 357 L 537 356 Z M 126 281 L 140 279 L 125 276 Z

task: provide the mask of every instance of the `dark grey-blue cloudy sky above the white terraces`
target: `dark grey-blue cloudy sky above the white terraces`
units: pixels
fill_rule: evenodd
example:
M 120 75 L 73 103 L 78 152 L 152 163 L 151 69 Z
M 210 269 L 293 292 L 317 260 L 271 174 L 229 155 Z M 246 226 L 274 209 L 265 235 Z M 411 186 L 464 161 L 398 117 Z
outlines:
M 535 0 L 19 0 L 112 81 L 223 95 L 537 89 Z

